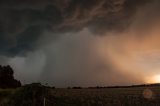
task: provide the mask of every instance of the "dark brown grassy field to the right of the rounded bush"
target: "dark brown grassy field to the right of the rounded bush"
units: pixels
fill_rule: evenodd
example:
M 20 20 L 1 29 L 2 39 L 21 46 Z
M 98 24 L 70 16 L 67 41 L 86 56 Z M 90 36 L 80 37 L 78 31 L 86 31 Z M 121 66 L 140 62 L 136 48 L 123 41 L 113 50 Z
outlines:
M 143 91 L 148 88 L 104 88 L 79 90 L 51 90 L 49 99 L 56 106 L 156 106 L 159 97 L 144 98 Z M 157 89 L 150 88 L 152 92 Z M 53 96 L 54 95 L 54 96 Z

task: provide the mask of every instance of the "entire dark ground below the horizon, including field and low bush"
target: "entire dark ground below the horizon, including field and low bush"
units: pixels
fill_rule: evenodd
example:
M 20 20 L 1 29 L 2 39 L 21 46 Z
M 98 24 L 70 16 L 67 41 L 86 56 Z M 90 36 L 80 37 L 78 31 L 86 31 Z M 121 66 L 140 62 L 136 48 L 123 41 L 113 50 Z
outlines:
M 0 106 L 160 106 L 160 86 L 65 89 L 27 85 L 0 90 Z

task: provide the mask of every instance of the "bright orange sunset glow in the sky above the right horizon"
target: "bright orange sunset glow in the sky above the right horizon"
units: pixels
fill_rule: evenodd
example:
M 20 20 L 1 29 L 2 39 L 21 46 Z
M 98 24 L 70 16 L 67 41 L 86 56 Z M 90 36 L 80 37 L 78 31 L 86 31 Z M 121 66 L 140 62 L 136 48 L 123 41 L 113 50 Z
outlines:
M 140 34 L 143 39 L 137 37 Z M 144 33 L 128 31 L 119 37 L 111 33 L 100 39 L 98 51 L 120 73 L 141 83 L 160 83 L 159 35 L 157 28 Z

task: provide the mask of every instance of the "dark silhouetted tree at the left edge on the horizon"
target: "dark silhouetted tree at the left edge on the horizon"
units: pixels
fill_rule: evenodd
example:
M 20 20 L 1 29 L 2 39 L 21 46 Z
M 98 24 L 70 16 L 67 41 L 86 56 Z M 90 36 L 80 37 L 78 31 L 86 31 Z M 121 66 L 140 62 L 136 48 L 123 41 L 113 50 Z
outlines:
M 21 82 L 14 79 L 13 69 L 7 66 L 0 65 L 0 88 L 17 88 L 21 86 Z

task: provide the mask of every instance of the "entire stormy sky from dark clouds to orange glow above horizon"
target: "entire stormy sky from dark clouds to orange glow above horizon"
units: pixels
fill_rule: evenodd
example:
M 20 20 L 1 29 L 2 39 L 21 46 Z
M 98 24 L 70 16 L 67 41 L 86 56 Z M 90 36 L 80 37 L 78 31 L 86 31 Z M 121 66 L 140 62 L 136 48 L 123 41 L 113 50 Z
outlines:
M 23 84 L 160 83 L 159 0 L 1 0 L 0 64 Z

